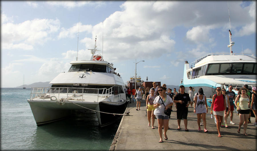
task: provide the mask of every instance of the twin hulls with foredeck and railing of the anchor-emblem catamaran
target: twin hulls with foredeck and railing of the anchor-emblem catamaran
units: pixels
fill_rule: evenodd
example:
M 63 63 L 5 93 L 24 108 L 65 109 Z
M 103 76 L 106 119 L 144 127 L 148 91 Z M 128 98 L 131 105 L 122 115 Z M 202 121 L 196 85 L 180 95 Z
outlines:
M 73 93 L 59 93 L 63 92 Z M 74 91 L 73 91 L 74 90 Z M 85 91 L 91 93 L 83 93 Z M 95 110 L 100 126 L 115 122 L 127 107 L 125 94 L 114 95 L 112 89 L 32 88 L 28 103 L 37 125 L 44 125 L 73 115 L 74 111 Z M 56 93 L 58 91 L 58 93 Z M 81 91 L 82 93 L 76 93 Z M 93 93 L 98 92 L 98 93 Z M 48 92 L 48 93 L 46 93 Z M 50 93 L 51 92 L 51 93 Z M 55 93 L 53 93 L 55 92 Z M 101 93 L 99 93 L 101 92 Z M 105 113 L 100 113 L 105 112 Z

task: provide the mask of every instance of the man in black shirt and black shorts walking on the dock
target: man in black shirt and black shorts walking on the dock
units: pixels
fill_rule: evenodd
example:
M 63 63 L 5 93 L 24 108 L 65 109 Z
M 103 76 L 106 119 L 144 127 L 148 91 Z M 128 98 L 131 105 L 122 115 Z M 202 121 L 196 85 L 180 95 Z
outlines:
M 177 120 L 178 120 L 178 130 L 180 130 L 180 122 L 181 119 L 184 119 L 184 125 L 185 125 L 185 131 L 189 131 L 187 129 L 187 116 L 188 116 L 188 106 L 190 104 L 190 97 L 188 93 L 185 93 L 185 87 L 184 85 L 181 85 L 180 87 L 180 93 L 178 93 L 174 97 L 174 103 L 176 103 L 177 106 Z

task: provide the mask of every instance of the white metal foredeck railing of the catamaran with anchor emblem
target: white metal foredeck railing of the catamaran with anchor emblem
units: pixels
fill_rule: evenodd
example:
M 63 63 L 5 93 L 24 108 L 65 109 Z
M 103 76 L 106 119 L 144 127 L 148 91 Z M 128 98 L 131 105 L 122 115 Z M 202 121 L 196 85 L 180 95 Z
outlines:
M 97 102 L 101 101 L 102 98 L 110 97 L 114 94 L 114 87 L 109 89 L 101 88 L 101 89 L 94 89 L 94 88 L 70 88 L 70 87 L 31 87 L 30 93 L 30 100 L 33 99 L 49 99 L 52 101 L 58 101 L 63 98 L 63 94 L 67 97 L 64 99 L 72 99 L 72 97 L 82 97 L 82 99 L 75 99 L 79 101 L 85 100 L 86 95 L 91 95 L 97 97 Z M 55 98 L 52 98 L 55 97 Z M 99 99 L 100 97 L 100 99 Z

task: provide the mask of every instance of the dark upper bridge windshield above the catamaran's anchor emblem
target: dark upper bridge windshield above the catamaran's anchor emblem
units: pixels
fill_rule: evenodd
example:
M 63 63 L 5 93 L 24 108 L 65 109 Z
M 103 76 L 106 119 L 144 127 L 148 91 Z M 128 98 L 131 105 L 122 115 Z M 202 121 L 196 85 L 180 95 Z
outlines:
M 92 72 L 106 72 L 106 66 L 101 64 L 75 64 L 71 65 L 68 72 L 77 71 L 92 71 Z

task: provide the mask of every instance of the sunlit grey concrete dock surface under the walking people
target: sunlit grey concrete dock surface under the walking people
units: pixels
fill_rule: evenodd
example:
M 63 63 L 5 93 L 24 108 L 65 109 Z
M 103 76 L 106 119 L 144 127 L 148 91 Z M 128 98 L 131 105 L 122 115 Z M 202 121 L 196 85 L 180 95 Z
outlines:
M 254 125 L 255 118 L 251 117 L 252 123 L 248 123 L 246 133 L 243 135 L 243 125 L 241 133 L 237 132 L 239 125 L 239 116 L 234 113 L 233 122 L 230 124 L 228 117 L 228 128 L 221 128 L 221 138 L 218 137 L 214 117 L 211 119 L 210 107 L 206 114 L 206 129 L 201 126 L 198 131 L 197 115 L 193 108 L 188 107 L 188 126 L 189 132 L 185 131 L 184 121 L 181 120 L 181 130 L 177 130 L 178 122 L 176 116 L 176 107 L 173 105 L 173 111 L 169 121 L 167 131 L 168 140 L 159 143 L 160 136 L 158 133 L 158 122 L 155 119 L 154 127 L 148 127 L 146 117 L 146 100 L 142 100 L 141 110 L 136 111 L 136 103 L 132 101 L 127 107 L 127 112 L 131 116 L 123 116 L 117 133 L 113 139 L 109 150 L 256 150 L 256 129 Z M 163 130 L 164 132 L 164 130 Z

